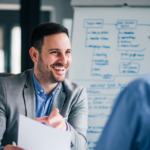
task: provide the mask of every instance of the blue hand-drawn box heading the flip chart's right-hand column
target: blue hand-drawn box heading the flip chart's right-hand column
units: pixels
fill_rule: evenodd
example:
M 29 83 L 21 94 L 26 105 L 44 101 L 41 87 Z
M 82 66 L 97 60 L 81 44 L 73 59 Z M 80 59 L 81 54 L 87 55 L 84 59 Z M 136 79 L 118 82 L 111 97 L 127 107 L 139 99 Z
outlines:
M 117 29 L 136 29 L 137 20 L 118 20 Z

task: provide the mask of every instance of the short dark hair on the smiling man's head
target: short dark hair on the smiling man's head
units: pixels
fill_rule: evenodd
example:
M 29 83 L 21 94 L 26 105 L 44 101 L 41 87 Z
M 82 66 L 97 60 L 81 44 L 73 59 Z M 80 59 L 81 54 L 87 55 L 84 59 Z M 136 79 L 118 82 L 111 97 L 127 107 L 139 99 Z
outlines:
M 68 29 L 60 24 L 54 22 L 39 24 L 31 33 L 31 47 L 35 47 L 41 53 L 44 36 L 57 33 L 66 33 L 69 37 Z

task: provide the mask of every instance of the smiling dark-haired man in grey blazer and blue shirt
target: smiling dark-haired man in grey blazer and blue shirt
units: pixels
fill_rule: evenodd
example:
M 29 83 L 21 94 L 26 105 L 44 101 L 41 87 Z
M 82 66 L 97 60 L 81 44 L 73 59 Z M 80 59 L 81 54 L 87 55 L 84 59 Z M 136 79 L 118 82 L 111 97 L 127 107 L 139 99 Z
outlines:
M 86 149 L 86 90 L 65 79 L 71 51 L 65 27 L 44 23 L 33 30 L 29 53 L 34 68 L 0 79 L 0 149 L 21 150 L 11 145 L 17 143 L 19 114 L 70 131 L 70 149 Z

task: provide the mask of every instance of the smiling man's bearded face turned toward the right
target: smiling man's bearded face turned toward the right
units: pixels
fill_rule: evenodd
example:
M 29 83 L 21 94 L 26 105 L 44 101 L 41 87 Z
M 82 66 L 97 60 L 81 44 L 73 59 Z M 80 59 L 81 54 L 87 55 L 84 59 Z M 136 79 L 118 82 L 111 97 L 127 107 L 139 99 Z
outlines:
M 71 44 L 65 33 L 44 37 L 37 69 L 39 75 L 51 83 L 62 82 L 71 64 Z

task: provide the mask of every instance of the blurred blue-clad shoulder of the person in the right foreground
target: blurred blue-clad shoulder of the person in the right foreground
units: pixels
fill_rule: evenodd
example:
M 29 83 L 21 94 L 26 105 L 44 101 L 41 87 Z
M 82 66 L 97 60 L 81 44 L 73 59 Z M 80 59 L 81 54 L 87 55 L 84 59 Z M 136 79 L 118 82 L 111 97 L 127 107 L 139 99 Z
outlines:
M 120 93 L 95 150 L 150 150 L 150 75 Z

